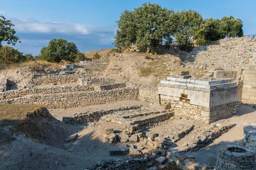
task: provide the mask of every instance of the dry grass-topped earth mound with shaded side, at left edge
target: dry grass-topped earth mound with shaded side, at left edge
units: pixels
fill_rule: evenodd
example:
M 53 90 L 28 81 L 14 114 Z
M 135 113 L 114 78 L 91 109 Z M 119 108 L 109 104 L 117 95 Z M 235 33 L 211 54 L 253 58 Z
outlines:
M 25 104 L 0 104 L 0 142 L 9 142 L 14 138 L 3 130 L 8 127 L 17 134 L 25 134 L 35 140 L 44 136 L 40 133 L 41 124 L 36 119 L 38 116 L 47 116 L 41 105 Z

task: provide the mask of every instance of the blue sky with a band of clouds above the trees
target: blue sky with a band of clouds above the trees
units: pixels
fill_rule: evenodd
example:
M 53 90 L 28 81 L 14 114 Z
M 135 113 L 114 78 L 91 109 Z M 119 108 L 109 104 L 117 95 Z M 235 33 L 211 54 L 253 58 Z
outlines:
M 37 55 L 52 38 L 76 43 L 81 52 L 113 48 L 122 11 L 145 2 L 181 11 L 193 9 L 204 18 L 233 15 L 243 21 L 244 35 L 256 34 L 255 0 L 0 0 L 0 15 L 12 20 L 21 43 L 14 48 Z

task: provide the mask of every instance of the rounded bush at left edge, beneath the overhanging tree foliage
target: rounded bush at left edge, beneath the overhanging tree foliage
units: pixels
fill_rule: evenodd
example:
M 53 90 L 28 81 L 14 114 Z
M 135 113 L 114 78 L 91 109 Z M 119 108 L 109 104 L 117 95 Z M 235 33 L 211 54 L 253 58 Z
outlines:
M 26 61 L 26 57 L 23 53 L 20 53 L 17 49 L 10 46 L 0 47 L 0 63 L 2 64 L 15 64 Z

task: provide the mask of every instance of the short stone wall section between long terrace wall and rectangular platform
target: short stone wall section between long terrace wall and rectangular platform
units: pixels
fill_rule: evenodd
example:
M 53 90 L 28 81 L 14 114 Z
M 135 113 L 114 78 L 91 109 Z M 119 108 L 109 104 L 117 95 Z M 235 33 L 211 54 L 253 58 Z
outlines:
M 158 102 L 157 87 L 154 86 L 140 86 L 138 99 L 148 102 Z

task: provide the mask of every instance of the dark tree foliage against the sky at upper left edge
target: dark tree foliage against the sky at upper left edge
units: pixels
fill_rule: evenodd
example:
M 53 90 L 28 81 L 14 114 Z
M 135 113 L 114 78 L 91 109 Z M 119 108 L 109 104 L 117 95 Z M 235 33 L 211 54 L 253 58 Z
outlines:
M 20 38 L 16 36 L 16 31 L 12 28 L 13 25 L 10 20 L 6 20 L 3 15 L 0 15 L 0 47 L 2 42 L 6 41 L 7 44 L 15 45 L 17 41 L 20 42 Z

